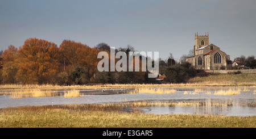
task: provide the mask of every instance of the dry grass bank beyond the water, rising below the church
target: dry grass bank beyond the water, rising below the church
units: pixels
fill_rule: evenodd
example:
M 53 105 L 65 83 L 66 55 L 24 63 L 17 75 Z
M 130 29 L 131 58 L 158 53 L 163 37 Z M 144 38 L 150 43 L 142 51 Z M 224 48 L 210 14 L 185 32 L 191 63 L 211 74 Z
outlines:
M 162 84 L 94 84 L 94 85 L 0 85 L 0 89 L 126 89 L 137 87 L 204 87 L 204 86 L 256 86 L 256 73 L 210 74 L 195 77 L 187 83 Z

